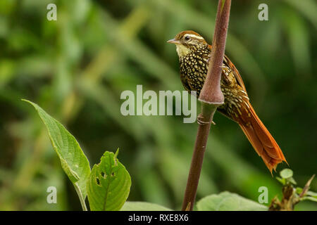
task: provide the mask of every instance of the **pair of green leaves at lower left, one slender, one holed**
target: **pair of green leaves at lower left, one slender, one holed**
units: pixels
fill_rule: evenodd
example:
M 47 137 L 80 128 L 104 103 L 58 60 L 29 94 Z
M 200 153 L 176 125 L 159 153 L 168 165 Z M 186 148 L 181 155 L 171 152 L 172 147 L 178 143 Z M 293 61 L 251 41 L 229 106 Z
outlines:
M 82 209 L 87 210 L 85 198 L 88 195 L 91 210 L 120 210 L 130 193 L 131 178 L 116 155 L 106 151 L 101 162 L 90 172 L 89 162 L 75 137 L 63 125 L 48 115 L 39 105 L 23 100 L 34 106 L 49 131 L 51 144 L 61 166 L 77 191 Z

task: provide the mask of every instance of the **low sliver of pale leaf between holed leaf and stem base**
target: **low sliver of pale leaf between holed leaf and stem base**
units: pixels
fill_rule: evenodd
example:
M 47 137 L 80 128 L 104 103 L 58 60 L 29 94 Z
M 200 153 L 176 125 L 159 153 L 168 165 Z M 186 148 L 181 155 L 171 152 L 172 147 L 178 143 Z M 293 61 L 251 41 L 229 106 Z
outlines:
M 125 202 L 120 211 L 172 211 L 167 207 L 154 203 Z

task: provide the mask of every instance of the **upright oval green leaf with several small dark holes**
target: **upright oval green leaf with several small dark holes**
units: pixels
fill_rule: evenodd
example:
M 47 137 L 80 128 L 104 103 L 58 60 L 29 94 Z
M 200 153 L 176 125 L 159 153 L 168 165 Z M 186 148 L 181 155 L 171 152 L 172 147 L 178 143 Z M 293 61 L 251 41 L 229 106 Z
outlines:
M 116 211 L 127 200 L 131 178 L 116 155 L 106 151 L 100 163 L 94 165 L 87 183 L 90 210 Z

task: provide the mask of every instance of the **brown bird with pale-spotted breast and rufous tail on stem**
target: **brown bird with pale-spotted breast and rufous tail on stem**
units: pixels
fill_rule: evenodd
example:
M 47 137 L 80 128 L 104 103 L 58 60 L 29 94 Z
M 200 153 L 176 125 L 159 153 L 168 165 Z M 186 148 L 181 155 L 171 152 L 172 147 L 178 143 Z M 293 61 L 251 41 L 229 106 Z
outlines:
M 176 45 L 182 86 L 187 91 L 196 91 L 199 97 L 208 72 L 212 46 L 205 41 L 204 37 L 192 30 L 182 31 L 167 42 Z M 220 89 L 225 98 L 224 103 L 219 105 L 217 110 L 240 125 L 271 174 L 273 169 L 276 172 L 280 162 L 287 163 L 285 156 L 256 115 L 242 77 L 228 56 L 223 58 Z

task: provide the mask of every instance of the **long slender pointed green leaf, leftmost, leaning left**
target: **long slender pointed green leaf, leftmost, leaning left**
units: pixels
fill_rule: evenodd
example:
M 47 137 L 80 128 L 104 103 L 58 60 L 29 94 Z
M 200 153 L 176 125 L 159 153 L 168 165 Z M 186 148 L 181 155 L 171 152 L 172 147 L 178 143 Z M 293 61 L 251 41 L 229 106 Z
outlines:
M 41 117 L 47 131 L 49 131 L 51 145 L 61 160 L 61 166 L 75 186 L 83 210 L 87 210 L 85 198 L 87 196 L 86 185 L 90 174 L 90 167 L 80 145 L 75 137 L 60 122 L 47 114 L 39 105 L 25 99 L 23 101 L 30 103 L 37 110 L 39 117 Z

